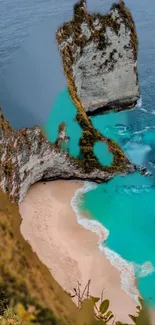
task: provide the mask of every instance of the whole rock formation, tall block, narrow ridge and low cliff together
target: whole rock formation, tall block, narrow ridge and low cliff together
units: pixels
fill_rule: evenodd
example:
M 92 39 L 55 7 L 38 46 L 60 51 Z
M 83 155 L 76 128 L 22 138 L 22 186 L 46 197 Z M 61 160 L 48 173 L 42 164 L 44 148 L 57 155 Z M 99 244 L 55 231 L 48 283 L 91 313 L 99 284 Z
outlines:
M 14 131 L 0 110 L 0 187 L 17 203 L 40 180 L 104 182 L 136 169 L 114 141 L 93 127 L 86 114 L 103 106 L 127 108 L 139 97 L 137 36 L 129 11 L 121 2 L 106 16 L 89 15 L 86 1 L 81 0 L 74 7 L 72 22 L 64 24 L 56 37 L 70 96 L 77 107 L 76 120 L 82 128 L 80 155 L 73 158 L 61 150 L 61 142 L 69 141 L 65 124 L 59 126 L 59 137 L 51 144 L 40 127 Z M 108 146 L 113 155 L 110 166 L 101 165 L 95 156 L 96 142 Z

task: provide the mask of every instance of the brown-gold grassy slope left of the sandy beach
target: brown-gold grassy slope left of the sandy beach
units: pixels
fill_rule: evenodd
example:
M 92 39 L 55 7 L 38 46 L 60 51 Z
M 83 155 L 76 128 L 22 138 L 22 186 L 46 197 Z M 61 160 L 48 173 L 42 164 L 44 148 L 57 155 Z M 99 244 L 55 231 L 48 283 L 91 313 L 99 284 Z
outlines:
M 18 207 L 0 191 L 0 315 L 19 302 L 39 310 L 42 325 L 74 324 L 75 305 L 21 236 Z

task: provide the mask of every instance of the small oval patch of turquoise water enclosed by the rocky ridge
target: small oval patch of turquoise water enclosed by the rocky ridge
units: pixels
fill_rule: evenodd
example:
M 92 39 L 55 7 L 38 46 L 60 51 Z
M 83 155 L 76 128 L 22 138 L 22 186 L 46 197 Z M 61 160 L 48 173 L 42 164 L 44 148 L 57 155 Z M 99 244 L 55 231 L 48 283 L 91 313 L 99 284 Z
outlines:
M 110 166 L 112 164 L 113 155 L 109 152 L 107 144 L 96 142 L 94 145 L 94 153 L 101 165 Z

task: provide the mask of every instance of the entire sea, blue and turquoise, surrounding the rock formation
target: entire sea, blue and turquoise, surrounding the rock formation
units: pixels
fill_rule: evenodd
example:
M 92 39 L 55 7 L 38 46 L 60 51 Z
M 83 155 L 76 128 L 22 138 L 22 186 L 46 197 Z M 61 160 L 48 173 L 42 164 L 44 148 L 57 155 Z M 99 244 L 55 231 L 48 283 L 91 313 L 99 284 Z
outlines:
M 66 122 L 68 150 L 77 156 L 81 129 L 74 120 L 76 109 L 68 96 L 54 38 L 56 27 L 71 18 L 73 3 L 1 1 L 0 96 L 14 127 L 43 124 L 51 142 L 57 138 L 59 123 Z M 110 0 L 88 0 L 90 11 L 104 13 L 111 4 Z M 105 247 L 132 263 L 141 295 L 155 306 L 155 1 L 127 0 L 126 4 L 139 37 L 141 99 L 133 110 L 96 116 L 92 123 L 152 176 L 117 176 L 84 193 L 79 207 L 107 229 Z M 106 147 L 97 144 L 94 152 L 101 163 L 112 162 Z

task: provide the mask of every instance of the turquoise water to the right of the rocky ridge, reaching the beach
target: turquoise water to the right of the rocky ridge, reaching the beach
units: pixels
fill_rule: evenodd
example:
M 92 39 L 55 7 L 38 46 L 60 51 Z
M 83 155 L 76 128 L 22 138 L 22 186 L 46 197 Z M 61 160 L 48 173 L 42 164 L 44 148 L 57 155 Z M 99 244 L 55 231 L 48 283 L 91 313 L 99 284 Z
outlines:
M 155 142 L 154 127 L 133 132 L 131 114 L 132 111 L 110 113 L 93 117 L 92 122 L 102 134 L 117 141 L 130 159 L 145 165 Z M 154 199 L 154 175 L 147 177 L 136 172 L 117 176 L 85 193 L 81 209 L 88 210 L 109 230 L 105 243 L 108 248 L 129 262 L 141 266 L 151 262 L 155 267 Z M 155 307 L 155 272 L 140 278 L 138 271 L 135 266 L 140 293 L 149 306 Z

